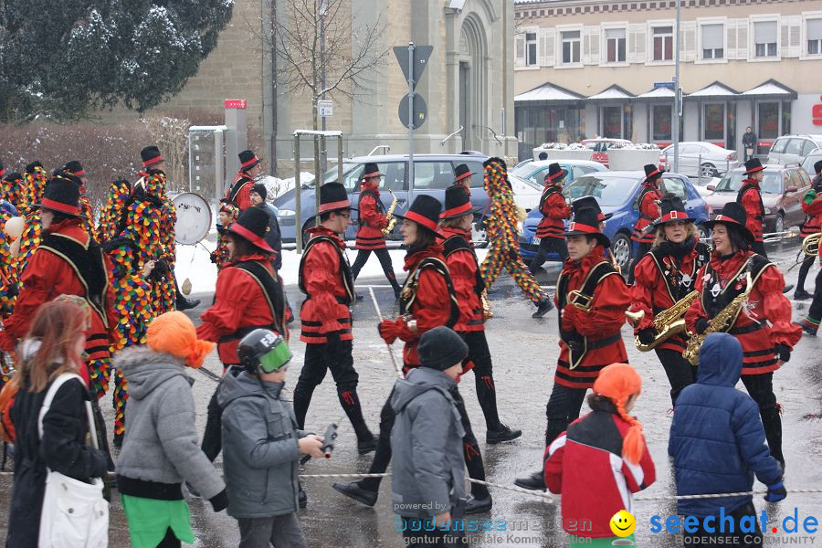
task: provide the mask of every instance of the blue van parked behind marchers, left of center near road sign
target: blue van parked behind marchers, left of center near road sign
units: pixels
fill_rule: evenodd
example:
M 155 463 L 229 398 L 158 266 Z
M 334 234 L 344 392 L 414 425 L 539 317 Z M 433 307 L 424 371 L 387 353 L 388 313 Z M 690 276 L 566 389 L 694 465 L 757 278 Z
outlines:
M 391 154 L 380 156 L 361 156 L 345 160 L 342 163 L 342 184 L 348 191 L 349 199 L 354 207 L 360 199 L 360 176 L 363 174 L 365 163 L 376 163 L 380 168 L 383 178 L 380 181 L 380 200 L 387 210 L 391 205 L 391 190 L 397 198 L 395 213 L 402 214 L 414 201 L 416 195 L 433 195 L 441 203 L 445 201 L 445 189 L 454 183 L 454 168 L 460 164 L 468 165 L 471 173 L 471 202 L 480 211 L 484 211 L 488 205 L 488 195 L 482 189 L 483 167 L 482 163 L 488 156 L 481 153 L 461 153 L 461 154 L 415 154 L 414 155 L 414 184 L 408 184 L 408 155 Z M 337 167 L 325 173 L 323 182 L 331 183 L 337 180 Z M 282 232 L 283 242 L 295 241 L 295 210 L 296 201 L 294 190 L 280 195 L 274 200 L 274 205 L 279 209 L 279 228 Z M 317 211 L 316 197 L 313 184 L 303 184 L 300 189 L 300 223 L 305 223 L 306 219 L 314 215 Z M 345 232 L 346 239 L 356 237 L 359 227 L 358 212 L 353 211 L 352 225 Z M 484 231 L 480 227 L 479 214 L 475 218 L 475 240 L 484 236 Z M 389 239 L 402 239 L 399 235 L 399 227 L 388 236 Z

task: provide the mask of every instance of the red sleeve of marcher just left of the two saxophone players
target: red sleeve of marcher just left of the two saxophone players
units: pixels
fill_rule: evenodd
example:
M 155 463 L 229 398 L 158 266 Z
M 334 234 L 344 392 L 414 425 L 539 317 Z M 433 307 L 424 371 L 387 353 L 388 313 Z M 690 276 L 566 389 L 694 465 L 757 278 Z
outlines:
M 574 330 L 589 336 L 608 336 L 619 332 L 625 323 L 625 311 L 631 304 L 631 294 L 621 276 L 603 279 L 594 290 L 594 306 L 590 311 L 575 311 L 571 316 Z

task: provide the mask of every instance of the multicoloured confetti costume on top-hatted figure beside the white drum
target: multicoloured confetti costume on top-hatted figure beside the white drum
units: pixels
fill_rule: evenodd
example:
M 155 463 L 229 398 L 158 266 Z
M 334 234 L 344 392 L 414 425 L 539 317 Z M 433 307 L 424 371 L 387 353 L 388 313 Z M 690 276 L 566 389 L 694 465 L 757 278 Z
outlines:
M 134 185 L 134 193 L 123 209 L 119 236 L 136 242 L 138 269 L 150 260 L 157 262 L 150 282 L 152 310 L 157 316 L 174 311 L 177 296 L 174 281 L 176 218 L 174 204 L 165 195 L 165 174 L 156 169 L 142 173 L 142 179 Z

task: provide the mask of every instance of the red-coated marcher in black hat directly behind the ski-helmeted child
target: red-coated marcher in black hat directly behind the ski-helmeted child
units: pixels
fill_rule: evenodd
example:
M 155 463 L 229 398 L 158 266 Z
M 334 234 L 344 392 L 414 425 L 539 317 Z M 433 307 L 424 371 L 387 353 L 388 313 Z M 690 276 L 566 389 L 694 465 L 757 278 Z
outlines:
M 197 338 L 217 343 L 224 374 L 237 376 L 243 371 L 237 344 L 249 332 L 264 328 L 286 340 L 289 338 L 289 330 L 283 323 L 282 279 L 271 267 L 274 250 L 265 240 L 268 227 L 268 214 L 251 207 L 228 228 L 230 260 L 217 275 L 214 304 L 200 316 L 203 322 L 197 327 Z M 208 402 L 202 444 L 210 460 L 214 460 L 223 447 L 221 416 L 215 390 Z

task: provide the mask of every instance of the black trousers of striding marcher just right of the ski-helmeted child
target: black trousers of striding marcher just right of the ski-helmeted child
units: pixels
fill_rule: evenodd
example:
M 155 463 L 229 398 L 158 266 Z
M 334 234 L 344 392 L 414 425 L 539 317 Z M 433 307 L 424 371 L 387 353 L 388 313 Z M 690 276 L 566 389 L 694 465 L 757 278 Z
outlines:
M 311 395 L 331 369 L 342 410 L 351 420 L 357 440 L 367 441 L 374 436 L 365 425 L 360 398 L 357 396 L 360 377 L 353 368 L 352 341 L 341 341 L 339 335 L 327 335 L 326 338 L 328 342 L 305 345 L 302 371 L 294 388 L 294 415 L 297 416 L 297 424 L 300 428 L 305 427 Z

